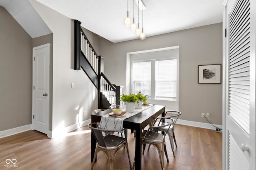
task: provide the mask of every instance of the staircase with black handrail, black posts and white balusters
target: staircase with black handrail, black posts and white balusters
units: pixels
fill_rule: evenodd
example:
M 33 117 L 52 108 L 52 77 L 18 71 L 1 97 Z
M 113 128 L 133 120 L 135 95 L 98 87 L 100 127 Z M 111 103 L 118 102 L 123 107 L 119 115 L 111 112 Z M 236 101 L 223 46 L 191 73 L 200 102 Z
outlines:
M 98 56 L 81 28 L 81 22 L 74 21 L 75 53 L 74 69 L 84 70 L 94 86 L 98 89 L 98 108 L 109 108 L 111 105 L 122 105 L 120 94 L 123 86 L 111 84 L 103 73 L 104 57 Z

